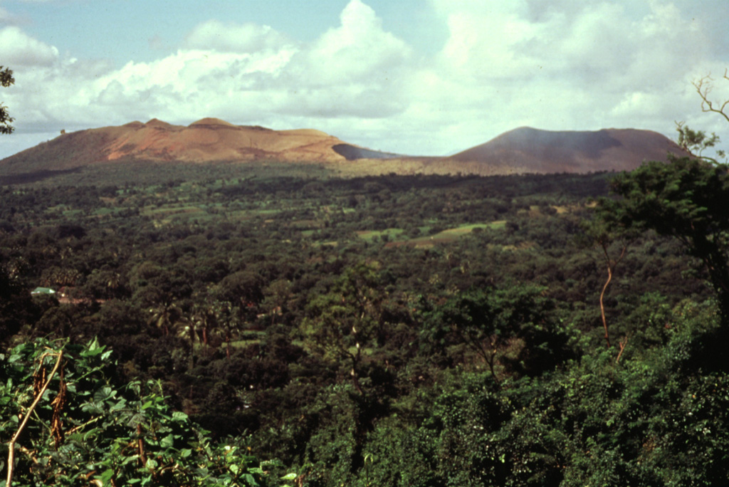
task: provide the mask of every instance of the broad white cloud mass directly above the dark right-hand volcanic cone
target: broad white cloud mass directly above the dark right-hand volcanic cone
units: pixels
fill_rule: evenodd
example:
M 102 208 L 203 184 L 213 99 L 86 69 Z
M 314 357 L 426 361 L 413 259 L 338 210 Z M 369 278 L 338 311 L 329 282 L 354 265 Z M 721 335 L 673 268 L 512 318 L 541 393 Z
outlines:
M 670 135 L 673 120 L 697 112 L 686 87 L 706 72 L 712 39 L 701 15 L 673 3 L 431 4 L 450 34 L 427 79 L 440 92 L 455 88 L 441 106 L 459 114 L 449 125 L 469 125 L 462 133 L 473 143 L 518 125 Z

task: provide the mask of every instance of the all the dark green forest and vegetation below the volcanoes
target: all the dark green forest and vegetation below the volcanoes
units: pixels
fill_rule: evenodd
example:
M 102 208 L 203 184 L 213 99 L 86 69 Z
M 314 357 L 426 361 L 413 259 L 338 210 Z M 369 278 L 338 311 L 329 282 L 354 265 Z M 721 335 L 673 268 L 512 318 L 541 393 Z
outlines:
M 713 167 L 8 180 L 0 453 L 48 381 L 14 485 L 724 485 Z

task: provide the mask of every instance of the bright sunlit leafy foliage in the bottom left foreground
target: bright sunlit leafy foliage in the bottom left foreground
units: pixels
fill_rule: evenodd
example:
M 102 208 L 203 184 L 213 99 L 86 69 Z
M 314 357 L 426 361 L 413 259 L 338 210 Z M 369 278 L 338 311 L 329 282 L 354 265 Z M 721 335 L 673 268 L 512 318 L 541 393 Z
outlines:
M 17 437 L 5 444 L 17 452 L 12 485 L 263 485 L 257 459 L 214 445 L 165 405 L 158 383 L 115 387 L 106 374 L 111 353 L 95 341 L 36 340 L 0 356 L 0 437 Z

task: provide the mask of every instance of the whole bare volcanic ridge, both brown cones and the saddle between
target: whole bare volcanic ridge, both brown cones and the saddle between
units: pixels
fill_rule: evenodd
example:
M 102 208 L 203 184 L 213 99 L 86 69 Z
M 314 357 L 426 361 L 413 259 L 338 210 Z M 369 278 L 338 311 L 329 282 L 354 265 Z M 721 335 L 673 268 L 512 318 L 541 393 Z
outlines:
M 687 155 L 660 133 L 639 129 L 509 130 L 455 155 L 414 157 L 349 144 L 313 128 L 273 130 L 205 117 L 190 125 L 157 118 L 62 133 L 0 160 L 0 174 L 66 171 L 87 165 L 150 163 L 320 163 L 358 174 L 588 173 L 631 171 L 644 160 Z

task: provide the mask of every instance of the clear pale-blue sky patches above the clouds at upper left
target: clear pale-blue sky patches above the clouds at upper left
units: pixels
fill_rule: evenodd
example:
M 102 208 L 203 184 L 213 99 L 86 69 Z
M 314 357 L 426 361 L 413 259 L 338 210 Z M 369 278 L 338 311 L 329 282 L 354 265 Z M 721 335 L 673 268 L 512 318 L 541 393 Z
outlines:
M 270 26 L 297 41 L 312 42 L 323 31 L 339 25 L 340 13 L 348 1 L 96 0 L 4 4 L 14 7 L 28 34 L 55 45 L 59 51 L 82 58 L 110 58 L 117 66 L 123 66 L 130 59 L 154 61 L 174 52 L 201 20 L 255 23 Z M 424 9 L 420 0 L 378 0 L 367 4 L 378 12 L 385 30 L 425 52 L 437 50 L 448 34 L 445 25 L 434 28 L 437 18 L 429 15 L 432 11 Z

